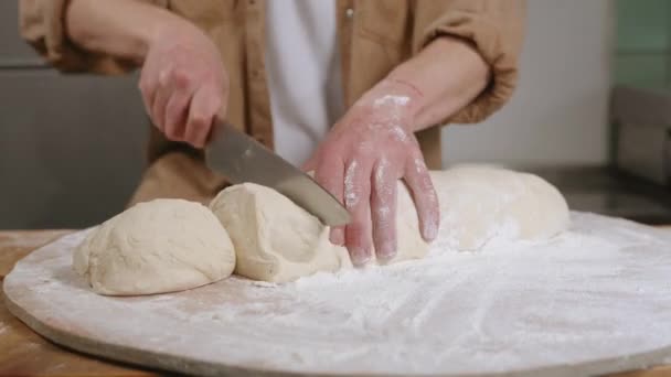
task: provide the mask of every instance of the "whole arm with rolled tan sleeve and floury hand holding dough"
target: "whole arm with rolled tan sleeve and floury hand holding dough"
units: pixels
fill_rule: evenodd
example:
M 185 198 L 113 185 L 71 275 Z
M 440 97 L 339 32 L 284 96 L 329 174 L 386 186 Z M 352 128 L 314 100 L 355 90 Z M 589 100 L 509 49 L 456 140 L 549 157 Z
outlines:
M 480 121 L 516 82 L 522 0 L 417 0 L 415 54 L 366 91 L 332 128 L 307 169 L 341 200 L 352 222 L 331 230 L 354 263 L 396 254 L 396 182 L 412 193 L 419 231 L 439 229 L 438 200 L 414 132 Z

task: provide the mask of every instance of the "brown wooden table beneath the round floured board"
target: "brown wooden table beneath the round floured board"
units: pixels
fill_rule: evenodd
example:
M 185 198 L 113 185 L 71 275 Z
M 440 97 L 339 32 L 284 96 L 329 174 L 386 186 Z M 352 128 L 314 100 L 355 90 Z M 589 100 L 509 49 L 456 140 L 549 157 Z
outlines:
M 671 227 L 669 227 L 671 230 Z M 0 231 L 0 280 L 14 263 L 32 250 L 72 230 Z M 15 319 L 4 306 L 0 292 L 0 376 L 33 375 L 96 375 L 96 376 L 157 376 L 151 371 L 116 362 L 83 355 L 41 337 Z M 671 366 L 618 374 L 618 377 L 671 376 Z

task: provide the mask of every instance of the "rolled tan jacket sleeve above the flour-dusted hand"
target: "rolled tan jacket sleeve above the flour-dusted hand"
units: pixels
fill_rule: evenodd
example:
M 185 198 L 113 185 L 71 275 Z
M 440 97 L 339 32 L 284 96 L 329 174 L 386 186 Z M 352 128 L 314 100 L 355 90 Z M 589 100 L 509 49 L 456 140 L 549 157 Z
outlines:
M 444 123 L 478 122 L 501 108 L 518 83 L 524 0 L 416 0 L 413 52 L 444 35 L 466 40 L 490 67 L 486 89 Z

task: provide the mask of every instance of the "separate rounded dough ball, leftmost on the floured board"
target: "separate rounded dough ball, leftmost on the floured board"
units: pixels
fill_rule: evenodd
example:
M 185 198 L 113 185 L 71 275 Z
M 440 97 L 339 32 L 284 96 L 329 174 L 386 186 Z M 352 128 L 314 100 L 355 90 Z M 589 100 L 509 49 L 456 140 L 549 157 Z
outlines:
M 73 267 L 100 294 L 181 291 L 228 277 L 235 251 L 207 207 L 183 200 L 140 203 L 94 229 Z

